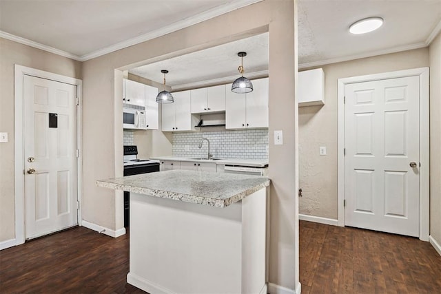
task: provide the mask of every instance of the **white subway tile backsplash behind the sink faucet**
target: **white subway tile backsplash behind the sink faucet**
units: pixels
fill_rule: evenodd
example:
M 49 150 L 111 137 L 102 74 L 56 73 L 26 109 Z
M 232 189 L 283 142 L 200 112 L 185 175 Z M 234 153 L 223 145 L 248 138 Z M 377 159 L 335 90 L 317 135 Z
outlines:
M 199 158 L 207 156 L 207 138 L 215 158 L 268 158 L 268 129 L 223 132 L 173 133 L 173 156 Z M 125 134 L 124 134 L 125 140 Z

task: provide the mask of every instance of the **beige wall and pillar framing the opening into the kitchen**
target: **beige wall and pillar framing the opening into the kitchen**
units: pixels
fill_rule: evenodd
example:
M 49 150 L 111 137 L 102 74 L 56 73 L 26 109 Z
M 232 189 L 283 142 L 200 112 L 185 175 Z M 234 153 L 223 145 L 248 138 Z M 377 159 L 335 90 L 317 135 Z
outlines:
M 285 145 L 269 144 L 271 187 L 271 249 L 269 281 L 287 288 L 298 286 L 298 230 L 296 229 L 296 105 L 294 84 L 296 48 L 294 41 L 295 0 L 265 0 L 220 17 L 151 41 L 112 52 L 83 63 L 83 218 L 110 229 L 120 229 L 115 218 L 119 197 L 95 181 L 121 174 L 116 163 L 123 156 L 116 148 L 114 113 L 121 112 L 121 98 L 114 83 L 122 74 L 144 62 L 194 52 L 269 31 L 269 129 L 283 129 Z M 236 65 L 232 65 L 236 66 Z M 119 78 L 115 78 L 120 76 Z M 274 98 L 272 98 L 274 97 Z M 101 114 L 96 119 L 96 112 Z M 121 143 L 122 145 L 122 140 Z

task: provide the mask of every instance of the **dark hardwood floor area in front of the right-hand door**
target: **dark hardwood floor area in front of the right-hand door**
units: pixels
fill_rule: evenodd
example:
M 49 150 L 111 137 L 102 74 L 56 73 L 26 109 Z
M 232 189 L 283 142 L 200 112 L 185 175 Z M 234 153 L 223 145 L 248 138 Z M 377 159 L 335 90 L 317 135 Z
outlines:
M 441 256 L 418 238 L 300 221 L 302 293 L 441 293 Z

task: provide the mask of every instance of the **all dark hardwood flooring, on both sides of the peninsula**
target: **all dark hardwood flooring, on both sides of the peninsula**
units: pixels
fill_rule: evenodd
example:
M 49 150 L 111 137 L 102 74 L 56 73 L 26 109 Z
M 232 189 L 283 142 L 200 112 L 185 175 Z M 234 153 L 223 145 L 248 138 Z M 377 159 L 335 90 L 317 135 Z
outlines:
M 145 293 L 125 282 L 128 234 L 83 227 L 0 251 L 0 293 Z M 441 293 L 441 257 L 417 238 L 300 221 L 302 293 Z

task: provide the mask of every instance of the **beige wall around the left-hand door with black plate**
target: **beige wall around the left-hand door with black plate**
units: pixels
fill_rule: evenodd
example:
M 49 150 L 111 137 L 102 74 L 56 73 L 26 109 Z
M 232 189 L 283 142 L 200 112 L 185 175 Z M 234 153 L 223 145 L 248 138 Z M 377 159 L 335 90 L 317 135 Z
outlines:
M 0 242 L 15 238 L 14 216 L 14 64 L 81 78 L 81 63 L 0 38 Z

